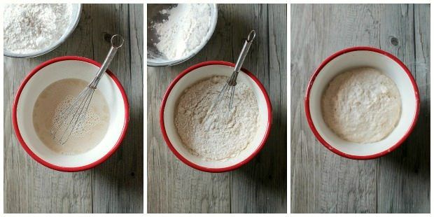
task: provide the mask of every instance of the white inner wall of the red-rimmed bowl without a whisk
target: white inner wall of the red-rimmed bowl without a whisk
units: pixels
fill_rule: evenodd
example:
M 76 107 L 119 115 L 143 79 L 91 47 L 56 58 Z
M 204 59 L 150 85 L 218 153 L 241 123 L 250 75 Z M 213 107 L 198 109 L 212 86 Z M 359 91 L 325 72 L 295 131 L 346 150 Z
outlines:
M 321 96 L 330 80 L 346 69 L 360 66 L 371 66 L 385 73 L 397 85 L 402 101 L 400 120 L 393 132 L 385 139 L 370 144 L 357 144 L 340 139 L 325 124 L 321 113 Z M 318 134 L 338 151 L 357 156 L 374 155 L 383 151 L 391 151 L 390 148 L 397 144 L 409 131 L 415 118 L 414 116 L 416 116 L 416 104 L 417 101 L 412 82 L 398 62 L 395 62 L 391 57 L 368 50 L 346 52 L 328 62 L 318 73 L 318 76 L 316 76 L 309 95 L 311 120 Z

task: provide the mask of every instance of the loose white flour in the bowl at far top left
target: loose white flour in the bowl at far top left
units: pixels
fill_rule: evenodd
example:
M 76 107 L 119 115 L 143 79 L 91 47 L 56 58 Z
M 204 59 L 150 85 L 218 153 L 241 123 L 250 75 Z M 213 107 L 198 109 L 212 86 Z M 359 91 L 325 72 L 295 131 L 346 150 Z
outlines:
M 71 21 L 71 4 L 6 4 L 3 39 L 6 50 L 27 54 L 43 50 L 62 37 Z

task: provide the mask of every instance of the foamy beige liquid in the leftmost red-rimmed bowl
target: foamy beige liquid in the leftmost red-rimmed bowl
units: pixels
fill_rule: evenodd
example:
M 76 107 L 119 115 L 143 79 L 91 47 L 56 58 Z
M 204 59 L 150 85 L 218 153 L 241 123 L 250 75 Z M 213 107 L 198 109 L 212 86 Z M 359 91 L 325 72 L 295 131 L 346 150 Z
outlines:
M 66 144 L 60 145 L 52 132 L 62 124 L 62 112 L 88 85 L 85 80 L 67 78 L 48 85 L 39 94 L 33 109 L 33 125 L 43 144 L 56 153 L 75 155 L 90 151 L 104 138 L 110 122 L 109 106 L 99 90 L 95 90 L 85 119 L 74 128 Z

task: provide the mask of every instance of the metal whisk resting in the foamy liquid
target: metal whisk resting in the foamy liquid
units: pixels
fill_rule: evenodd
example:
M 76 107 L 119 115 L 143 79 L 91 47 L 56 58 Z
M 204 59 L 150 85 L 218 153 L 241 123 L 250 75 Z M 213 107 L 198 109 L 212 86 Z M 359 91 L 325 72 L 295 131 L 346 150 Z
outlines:
M 57 144 L 62 146 L 66 144 L 66 141 L 71 137 L 73 130 L 76 129 L 77 124 L 84 123 L 87 109 L 89 109 L 90 101 L 92 100 L 94 91 L 97 89 L 99 80 L 109 67 L 109 64 L 116 55 L 118 48 L 123 45 L 124 38 L 123 36 L 116 34 L 111 36 L 110 42 L 111 48 L 106 59 L 104 59 L 102 66 L 99 68 L 97 75 L 89 85 L 87 85 L 87 87 L 85 87 L 85 89 L 73 99 L 73 102 L 69 104 L 68 108 L 60 113 L 59 120 L 62 120 L 62 123 L 60 123 L 59 126 L 56 126 L 55 130 L 51 130 L 52 138 L 57 142 Z

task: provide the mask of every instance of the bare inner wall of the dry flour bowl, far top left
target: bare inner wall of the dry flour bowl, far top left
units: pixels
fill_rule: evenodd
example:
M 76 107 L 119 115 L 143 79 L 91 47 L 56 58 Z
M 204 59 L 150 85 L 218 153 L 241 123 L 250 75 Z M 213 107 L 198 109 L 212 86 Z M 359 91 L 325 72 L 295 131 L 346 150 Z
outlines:
M 76 29 L 76 26 L 78 25 L 78 21 L 80 20 L 81 4 L 71 3 L 71 5 L 72 5 L 72 12 L 71 12 L 71 20 L 69 21 L 69 25 L 68 27 L 66 27 L 66 30 L 62 35 L 62 37 L 60 37 L 59 40 L 57 40 L 55 43 L 48 46 L 47 48 L 44 48 L 43 50 L 39 50 L 37 52 L 25 53 L 25 54 L 10 52 L 9 50 L 3 50 L 4 55 L 8 57 L 36 57 L 57 48 L 60 44 L 62 44 L 66 40 L 66 38 L 69 37 L 69 35 L 72 34 L 74 29 Z

